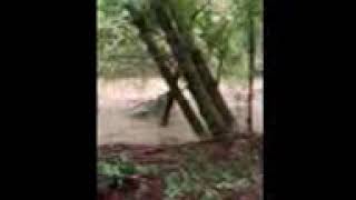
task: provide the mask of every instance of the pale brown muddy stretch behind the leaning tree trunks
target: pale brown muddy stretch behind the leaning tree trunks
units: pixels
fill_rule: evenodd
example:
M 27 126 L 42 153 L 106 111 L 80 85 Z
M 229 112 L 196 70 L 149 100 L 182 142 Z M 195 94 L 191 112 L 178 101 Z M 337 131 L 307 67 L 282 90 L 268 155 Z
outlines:
M 159 127 L 158 118 L 134 119 L 131 109 L 140 102 L 155 99 L 167 91 L 160 78 L 98 80 L 98 144 L 177 144 L 197 141 L 178 106 L 170 116 L 169 126 Z M 246 88 L 236 82 L 221 82 L 220 91 L 246 129 Z M 263 80 L 256 80 L 254 100 L 254 129 L 263 133 Z

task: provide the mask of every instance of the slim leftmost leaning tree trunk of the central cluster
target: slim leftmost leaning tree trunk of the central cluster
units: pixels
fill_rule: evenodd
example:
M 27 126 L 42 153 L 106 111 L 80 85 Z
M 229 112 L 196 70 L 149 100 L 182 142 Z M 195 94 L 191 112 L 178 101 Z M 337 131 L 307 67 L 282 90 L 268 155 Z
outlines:
M 171 74 L 169 66 L 167 66 L 167 57 L 162 56 L 159 47 L 154 41 L 154 37 L 149 32 L 150 27 L 147 24 L 145 17 L 142 17 L 134 7 L 127 6 L 127 9 L 130 11 L 134 18 L 132 23 L 139 29 L 140 38 L 147 44 L 149 53 L 152 56 L 155 62 L 157 63 L 161 76 L 165 78 L 170 91 L 172 92 L 174 98 L 177 100 L 191 128 L 198 136 L 205 137 L 207 131 L 205 130 L 201 121 L 196 116 L 189 102 L 182 96 L 180 89 L 178 88 L 177 81 Z

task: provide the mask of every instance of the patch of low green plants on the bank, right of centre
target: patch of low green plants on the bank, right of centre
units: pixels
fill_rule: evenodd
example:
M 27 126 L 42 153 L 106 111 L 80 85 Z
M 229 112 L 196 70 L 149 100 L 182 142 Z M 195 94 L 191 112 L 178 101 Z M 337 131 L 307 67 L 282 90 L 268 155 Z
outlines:
M 178 199 L 195 196 L 198 199 L 220 199 L 221 191 L 248 188 L 253 184 L 253 162 L 230 161 L 214 163 L 204 153 L 190 152 L 184 168 L 165 176 L 165 196 Z

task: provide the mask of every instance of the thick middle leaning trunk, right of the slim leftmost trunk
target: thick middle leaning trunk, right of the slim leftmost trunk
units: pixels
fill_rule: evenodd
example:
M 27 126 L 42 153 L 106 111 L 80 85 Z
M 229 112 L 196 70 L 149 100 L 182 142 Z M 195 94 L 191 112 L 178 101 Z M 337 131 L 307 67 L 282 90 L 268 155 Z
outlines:
M 171 19 L 166 13 L 159 3 L 155 4 L 158 23 L 166 33 L 166 39 L 170 49 L 172 50 L 178 67 L 182 70 L 184 76 L 188 82 L 188 88 L 196 99 L 199 111 L 205 118 L 209 130 L 212 134 L 220 134 L 228 132 L 227 124 L 219 110 L 216 108 L 214 100 L 205 88 L 205 82 L 201 80 L 192 60 L 188 44 L 182 40 L 181 36 L 177 33 L 171 24 Z

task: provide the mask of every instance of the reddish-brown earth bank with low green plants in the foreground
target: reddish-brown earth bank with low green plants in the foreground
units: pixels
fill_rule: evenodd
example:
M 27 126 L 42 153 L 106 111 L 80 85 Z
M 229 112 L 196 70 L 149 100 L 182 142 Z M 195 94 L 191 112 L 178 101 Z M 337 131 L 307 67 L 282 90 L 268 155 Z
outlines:
M 127 176 L 119 188 L 99 187 L 99 199 L 259 200 L 261 154 L 261 136 L 257 134 L 228 143 L 101 146 L 100 162 L 110 163 L 121 157 L 139 170 Z M 99 184 L 105 184 L 102 178 Z

